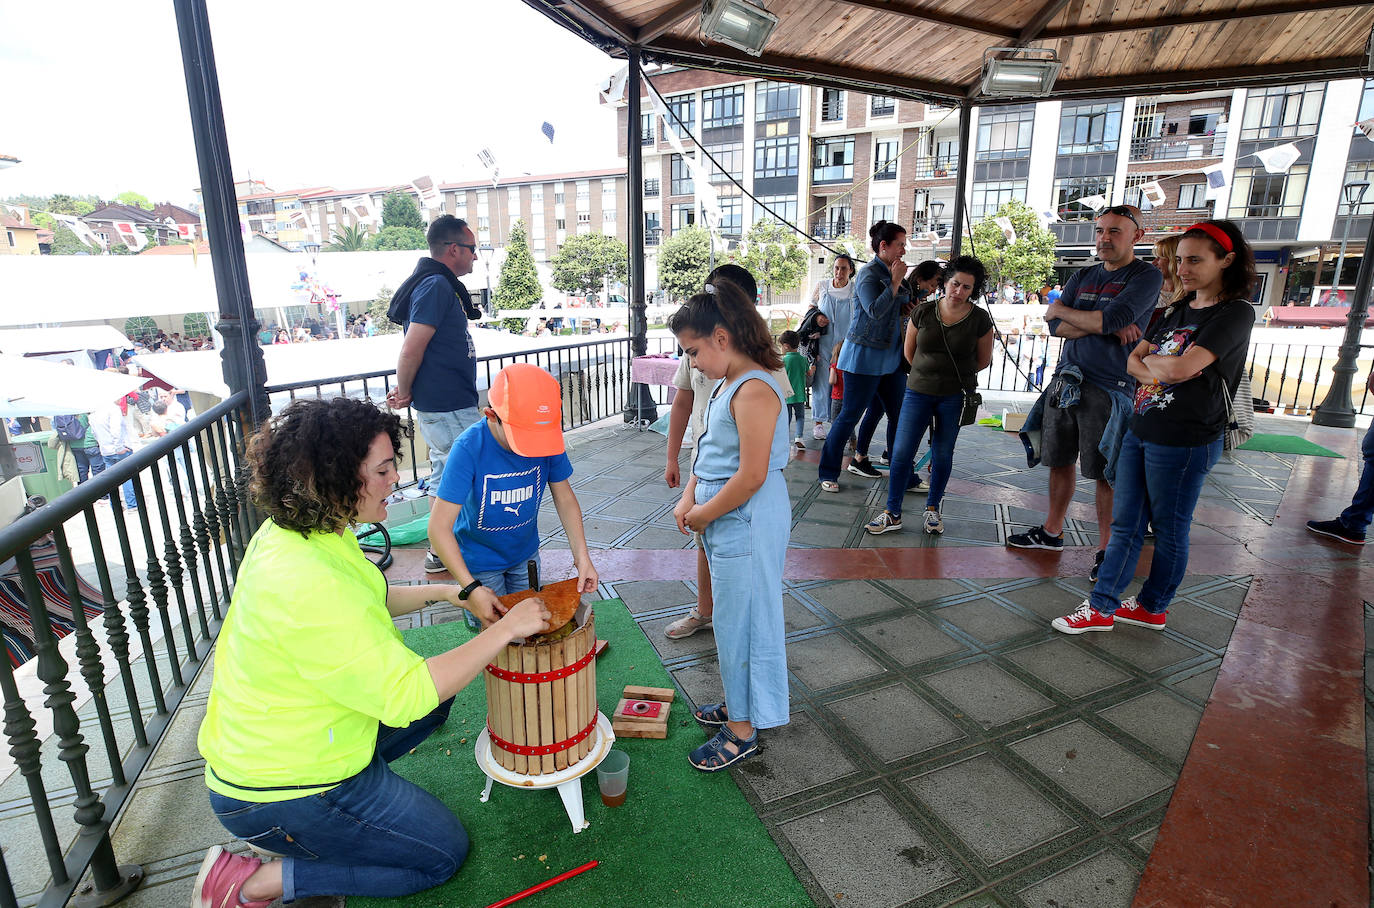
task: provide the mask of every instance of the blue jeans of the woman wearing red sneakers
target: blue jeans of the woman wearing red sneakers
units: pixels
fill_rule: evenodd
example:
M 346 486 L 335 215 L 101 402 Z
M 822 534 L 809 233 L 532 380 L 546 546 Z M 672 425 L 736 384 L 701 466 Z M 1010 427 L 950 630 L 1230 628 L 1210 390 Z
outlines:
M 1147 523 L 1154 526 L 1154 558 L 1136 602 L 1153 614 L 1168 610 L 1189 569 L 1189 532 L 1202 481 L 1220 457 L 1220 435 L 1206 445 L 1176 448 L 1140 441 L 1127 430 L 1117 460 L 1112 541 L 1088 598 L 1096 611 L 1109 615 L 1121 607 L 1121 592 L 1140 563 Z

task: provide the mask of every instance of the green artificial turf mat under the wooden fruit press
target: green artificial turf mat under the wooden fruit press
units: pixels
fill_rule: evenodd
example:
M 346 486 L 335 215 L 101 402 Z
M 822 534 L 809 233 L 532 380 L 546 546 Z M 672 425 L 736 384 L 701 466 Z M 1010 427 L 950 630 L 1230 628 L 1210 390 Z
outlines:
M 596 659 L 598 703 L 607 718 L 627 684 L 673 687 L 622 602 L 598 602 L 595 613 L 596 636 L 610 642 Z M 471 632 L 455 621 L 415 628 L 404 636 L 416 652 L 434 655 L 466 642 Z M 482 681 L 475 680 L 458 695 L 448 724 L 414 754 L 392 764 L 463 820 L 473 841 L 467 863 L 442 886 L 404 900 L 349 897 L 349 908 L 481 908 L 589 860 L 600 865 L 530 896 L 521 908 L 813 904 L 730 773 L 703 773 L 688 765 L 687 754 L 705 735 L 680 692 L 666 739 L 616 740 L 616 749 L 629 754 L 624 806 L 605 806 L 596 773 L 583 776 L 583 805 L 591 826 L 576 835 L 555 788 L 519 791 L 497 783 L 491 801 L 478 801 L 486 778 L 477 768 L 473 747 L 485 720 L 486 695 Z

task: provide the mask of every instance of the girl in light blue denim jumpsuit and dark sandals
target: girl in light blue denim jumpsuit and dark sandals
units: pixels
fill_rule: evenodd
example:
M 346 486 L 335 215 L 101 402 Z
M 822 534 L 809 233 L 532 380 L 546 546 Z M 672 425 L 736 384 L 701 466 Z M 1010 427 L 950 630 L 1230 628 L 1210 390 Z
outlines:
M 782 567 L 791 504 L 782 360 L 768 326 L 734 284 L 708 284 L 668 321 L 702 372 L 717 381 L 692 475 L 673 508 L 677 529 L 702 534 L 716 599 L 725 701 L 694 710 L 716 736 L 688 760 L 716 772 L 758 751 L 760 728 L 787 723 Z

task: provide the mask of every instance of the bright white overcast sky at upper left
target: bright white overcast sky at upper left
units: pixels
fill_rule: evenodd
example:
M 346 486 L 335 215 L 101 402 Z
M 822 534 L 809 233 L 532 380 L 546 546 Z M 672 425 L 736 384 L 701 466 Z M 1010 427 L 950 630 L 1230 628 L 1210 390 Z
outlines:
M 209 0 L 236 179 L 338 190 L 616 165 L 621 63 L 519 0 Z M 0 198 L 199 185 L 170 3 L 0 3 Z M 550 144 L 540 133 L 554 125 Z

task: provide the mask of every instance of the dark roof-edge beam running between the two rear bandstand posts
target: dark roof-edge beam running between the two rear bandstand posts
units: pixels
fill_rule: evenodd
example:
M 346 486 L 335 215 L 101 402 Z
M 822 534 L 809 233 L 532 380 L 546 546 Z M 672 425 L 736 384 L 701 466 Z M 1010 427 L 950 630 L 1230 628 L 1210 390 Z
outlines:
M 813 85 L 829 85 L 863 91 L 871 95 L 894 93 L 904 98 L 934 99 L 955 104 L 963 98 L 963 87 L 956 82 L 929 82 L 897 76 L 890 71 L 837 66 L 823 60 L 802 56 L 780 56 L 778 54 L 768 54 L 767 51 L 764 56 L 758 58 L 724 44 L 702 47 L 695 41 L 680 41 L 666 37 L 660 38 L 651 47 L 646 47 L 644 54 L 660 62 L 745 76 L 761 76 L 764 78 L 782 78 Z M 721 63 L 725 63 L 725 66 Z

